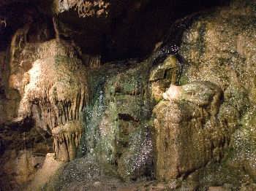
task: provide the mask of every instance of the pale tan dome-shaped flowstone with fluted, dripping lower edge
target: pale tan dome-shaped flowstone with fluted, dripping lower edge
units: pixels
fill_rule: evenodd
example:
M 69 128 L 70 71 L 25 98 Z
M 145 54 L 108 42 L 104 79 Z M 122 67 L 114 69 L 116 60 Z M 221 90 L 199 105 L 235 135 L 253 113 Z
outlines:
M 75 158 L 82 134 L 86 69 L 73 45 L 56 40 L 29 43 L 28 28 L 12 38 L 9 88 L 20 96 L 18 117 L 33 119 L 37 128 L 54 129 L 56 157 L 67 162 Z

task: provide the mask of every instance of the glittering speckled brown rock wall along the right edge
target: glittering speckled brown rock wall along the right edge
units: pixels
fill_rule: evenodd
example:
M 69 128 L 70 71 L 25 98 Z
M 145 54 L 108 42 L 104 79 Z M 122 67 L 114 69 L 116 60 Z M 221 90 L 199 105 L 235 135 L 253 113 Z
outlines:
M 255 179 L 254 7 L 255 1 L 233 1 L 230 7 L 200 15 L 184 32 L 180 51 L 190 63 L 184 79 L 214 82 L 223 90 L 218 117 L 230 132 L 236 129 L 223 164 L 251 179 Z

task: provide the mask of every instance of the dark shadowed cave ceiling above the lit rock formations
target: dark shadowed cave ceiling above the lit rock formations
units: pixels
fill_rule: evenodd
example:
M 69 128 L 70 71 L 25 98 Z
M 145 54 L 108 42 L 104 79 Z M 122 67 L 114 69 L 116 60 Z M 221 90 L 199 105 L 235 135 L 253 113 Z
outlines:
M 68 2 L 66 8 L 65 2 Z M 0 18 L 7 22 L 6 27 L 3 24 L 0 26 L 1 50 L 6 49 L 18 28 L 26 23 L 39 23 L 39 20 L 51 23 L 55 16 L 59 23 L 59 34 L 75 41 L 84 53 L 102 55 L 105 62 L 145 58 L 176 19 L 192 12 L 228 4 L 228 1 L 223 0 L 89 0 L 83 6 L 84 12 L 91 13 L 78 15 L 79 9 L 75 7 L 79 2 L 81 1 L 1 1 Z M 106 4 L 108 6 L 105 8 Z M 102 13 L 97 15 L 98 11 Z

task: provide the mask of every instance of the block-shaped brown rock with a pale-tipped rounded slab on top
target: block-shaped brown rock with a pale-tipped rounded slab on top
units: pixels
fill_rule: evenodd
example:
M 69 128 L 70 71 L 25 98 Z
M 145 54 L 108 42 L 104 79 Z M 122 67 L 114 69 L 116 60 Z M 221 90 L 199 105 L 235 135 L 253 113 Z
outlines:
M 218 161 L 227 147 L 225 125 L 217 119 L 222 90 L 211 82 L 192 82 L 167 90 L 168 101 L 154 108 L 157 179 L 176 179 Z

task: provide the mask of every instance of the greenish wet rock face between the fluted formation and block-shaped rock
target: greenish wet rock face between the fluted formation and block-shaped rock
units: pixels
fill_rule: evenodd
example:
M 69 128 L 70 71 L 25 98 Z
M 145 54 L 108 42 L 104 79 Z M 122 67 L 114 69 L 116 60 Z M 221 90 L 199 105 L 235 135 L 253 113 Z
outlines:
M 122 66 L 105 64 L 91 71 L 94 97 L 86 112 L 84 147 L 99 155 L 101 163 L 116 168 L 113 171 L 125 180 L 152 171 L 148 71 L 148 63 L 136 61 L 124 61 Z

